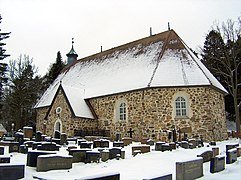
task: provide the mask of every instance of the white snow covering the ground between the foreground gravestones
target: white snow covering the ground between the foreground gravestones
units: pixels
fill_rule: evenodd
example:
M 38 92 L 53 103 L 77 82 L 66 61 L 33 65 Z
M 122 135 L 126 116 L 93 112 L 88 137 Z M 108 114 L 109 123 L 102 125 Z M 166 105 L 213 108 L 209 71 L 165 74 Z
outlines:
M 225 154 L 225 145 L 239 143 L 241 140 L 229 139 L 227 141 L 217 142 L 220 154 Z M 176 162 L 195 158 L 198 154 L 206 150 L 211 150 L 213 146 L 205 146 L 196 149 L 183 149 L 178 148 L 172 152 L 154 151 L 154 146 L 151 146 L 151 152 L 145 154 L 138 154 L 135 157 L 131 155 L 131 146 L 140 144 L 134 142 L 125 149 L 125 159 L 108 160 L 107 162 L 100 163 L 73 163 L 72 169 L 69 170 L 52 170 L 48 172 L 36 172 L 36 168 L 26 166 L 25 178 L 33 179 L 33 176 L 41 177 L 48 180 L 61 180 L 61 179 L 78 179 L 87 176 L 95 176 L 103 173 L 119 172 L 121 180 L 139 180 L 144 178 L 155 177 L 172 173 L 173 179 L 176 179 Z M 68 154 L 62 147 L 60 154 Z M 20 153 L 11 153 L 11 163 L 26 163 L 27 155 Z M 241 179 L 241 157 L 233 164 L 226 164 L 224 171 L 219 173 L 210 173 L 210 163 L 203 165 L 204 176 L 201 180 L 206 179 L 225 179 L 235 180 Z

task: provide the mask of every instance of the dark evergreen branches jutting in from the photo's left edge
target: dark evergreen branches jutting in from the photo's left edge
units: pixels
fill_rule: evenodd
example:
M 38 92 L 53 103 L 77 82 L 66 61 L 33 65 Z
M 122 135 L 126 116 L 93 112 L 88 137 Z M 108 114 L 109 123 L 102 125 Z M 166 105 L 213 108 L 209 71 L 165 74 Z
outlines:
M 2 22 L 1 20 L 2 20 L 2 17 L 0 15 L 0 24 Z M 0 29 L 0 61 L 4 60 L 6 57 L 10 56 L 10 55 L 6 54 L 6 50 L 4 49 L 4 46 L 6 44 L 2 42 L 4 39 L 9 38 L 9 34 L 10 33 L 2 33 L 1 29 Z M 2 96 L 3 96 L 3 86 L 4 86 L 4 84 L 7 83 L 6 72 L 7 72 L 7 64 L 0 62 L 0 101 L 1 101 L 1 104 L 2 104 Z

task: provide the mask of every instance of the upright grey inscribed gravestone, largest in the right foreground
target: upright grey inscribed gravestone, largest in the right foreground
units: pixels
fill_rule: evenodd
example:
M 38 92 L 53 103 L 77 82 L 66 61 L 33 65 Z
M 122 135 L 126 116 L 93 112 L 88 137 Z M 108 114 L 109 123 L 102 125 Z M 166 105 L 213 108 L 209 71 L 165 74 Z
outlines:
M 176 180 L 196 179 L 203 176 L 203 159 L 176 162 Z

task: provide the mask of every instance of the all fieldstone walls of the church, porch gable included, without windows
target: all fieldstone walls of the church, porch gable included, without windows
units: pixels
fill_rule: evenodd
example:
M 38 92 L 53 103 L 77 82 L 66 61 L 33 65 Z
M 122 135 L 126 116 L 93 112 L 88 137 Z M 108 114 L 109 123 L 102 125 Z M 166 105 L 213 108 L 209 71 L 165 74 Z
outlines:
M 175 98 L 187 97 L 188 112 L 186 117 L 175 116 Z M 127 103 L 127 120 L 119 121 L 116 104 L 124 100 Z M 202 135 L 204 141 L 224 140 L 227 138 L 224 112 L 224 96 L 211 87 L 189 88 L 147 88 L 116 95 L 89 99 L 98 119 L 74 117 L 65 96 L 59 91 L 47 116 L 46 134 L 53 136 L 56 120 L 61 121 L 62 131 L 73 136 L 78 129 L 110 130 L 111 139 L 120 132 L 121 137 L 128 137 L 130 128 L 134 131 L 133 140 L 148 137 L 167 141 L 168 134 L 163 130 L 189 128 L 188 137 Z M 56 108 L 61 107 L 61 113 Z M 43 122 L 47 108 L 37 109 L 37 130 L 43 131 Z M 98 126 L 97 126 L 98 124 Z

